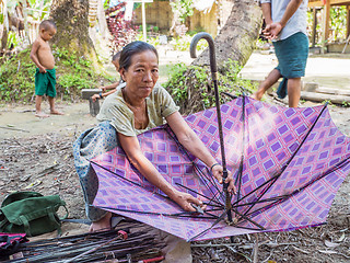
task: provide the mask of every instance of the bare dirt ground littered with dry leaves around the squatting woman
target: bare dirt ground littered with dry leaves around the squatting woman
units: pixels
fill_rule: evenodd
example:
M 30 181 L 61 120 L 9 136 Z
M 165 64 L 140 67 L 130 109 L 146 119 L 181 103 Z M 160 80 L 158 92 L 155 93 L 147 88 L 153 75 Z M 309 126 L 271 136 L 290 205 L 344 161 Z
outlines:
M 43 105 L 47 111 L 47 103 Z M 315 104 L 305 102 L 302 106 L 312 105 Z M 85 101 L 60 103 L 58 107 L 65 116 L 39 119 L 34 116 L 34 105 L 0 106 L 0 202 L 13 191 L 59 194 L 67 203 L 70 218 L 85 218 L 72 142 L 96 121 L 90 116 Z M 350 136 L 350 108 L 331 105 L 329 110 L 338 128 Z M 349 204 L 350 180 L 347 178 L 336 195 L 327 225 L 257 235 L 257 262 L 350 262 Z M 73 235 L 88 231 L 88 226 L 63 224 L 62 230 Z M 255 241 L 256 237 L 250 235 L 196 242 L 194 262 L 253 262 Z

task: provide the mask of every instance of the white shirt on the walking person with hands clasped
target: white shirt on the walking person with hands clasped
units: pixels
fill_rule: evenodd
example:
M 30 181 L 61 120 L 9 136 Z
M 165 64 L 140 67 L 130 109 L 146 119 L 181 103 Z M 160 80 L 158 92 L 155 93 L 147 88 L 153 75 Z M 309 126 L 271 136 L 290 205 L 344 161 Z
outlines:
M 290 1 L 291 0 L 260 0 L 261 3 L 271 3 L 271 19 L 273 22 L 281 21 Z M 279 34 L 277 41 L 285 39 L 298 32 L 302 32 L 306 35 L 307 2 L 308 0 L 304 0 L 300 4 L 299 9 L 295 11 L 292 18 L 290 18 Z

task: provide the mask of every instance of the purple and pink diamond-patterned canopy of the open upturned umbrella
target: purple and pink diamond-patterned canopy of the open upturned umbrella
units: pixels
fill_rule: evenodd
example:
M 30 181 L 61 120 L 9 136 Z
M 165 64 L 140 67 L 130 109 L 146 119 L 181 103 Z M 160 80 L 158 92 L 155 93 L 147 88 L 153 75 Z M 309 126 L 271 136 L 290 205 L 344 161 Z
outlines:
M 225 221 L 222 186 L 167 125 L 138 136 L 141 149 L 176 188 L 201 198 L 206 211 L 184 211 L 118 147 L 91 160 L 98 176 L 93 205 L 186 240 L 324 224 L 350 172 L 350 138 L 337 129 L 327 106 L 287 108 L 243 96 L 221 105 L 221 116 L 226 165 L 237 187 L 231 201 L 233 224 Z M 189 115 L 186 122 L 220 160 L 215 108 Z

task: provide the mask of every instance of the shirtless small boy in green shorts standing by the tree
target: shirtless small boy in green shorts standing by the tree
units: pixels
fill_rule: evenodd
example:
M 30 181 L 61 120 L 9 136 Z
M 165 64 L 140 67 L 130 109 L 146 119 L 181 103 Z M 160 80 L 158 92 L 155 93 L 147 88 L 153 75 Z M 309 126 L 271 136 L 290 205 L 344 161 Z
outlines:
M 56 69 L 55 58 L 48 44 L 56 34 L 57 27 L 54 21 L 44 20 L 39 25 L 39 35 L 32 46 L 31 59 L 37 66 L 35 73 L 35 116 L 48 117 L 42 112 L 43 96 L 48 96 L 50 114 L 63 115 L 55 108 L 56 96 Z

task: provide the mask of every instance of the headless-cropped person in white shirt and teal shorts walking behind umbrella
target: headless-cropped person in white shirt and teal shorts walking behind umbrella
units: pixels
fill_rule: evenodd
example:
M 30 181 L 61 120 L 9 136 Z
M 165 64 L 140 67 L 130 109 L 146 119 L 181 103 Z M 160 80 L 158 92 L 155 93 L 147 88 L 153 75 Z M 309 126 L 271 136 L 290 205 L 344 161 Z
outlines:
M 288 94 L 289 106 L 298 107 L 302 88 L 301 77 L 305 76 L 308 56 L 307 0 L 260 0 L 260 2 L 266 22 L 262 32 L 272 41 L 279 65 L 261 82 L 253 98 L 261 100 L 264 93 L 283 78 L 277 94 L 280 99 Z

